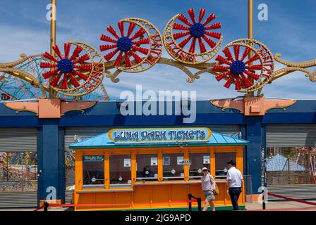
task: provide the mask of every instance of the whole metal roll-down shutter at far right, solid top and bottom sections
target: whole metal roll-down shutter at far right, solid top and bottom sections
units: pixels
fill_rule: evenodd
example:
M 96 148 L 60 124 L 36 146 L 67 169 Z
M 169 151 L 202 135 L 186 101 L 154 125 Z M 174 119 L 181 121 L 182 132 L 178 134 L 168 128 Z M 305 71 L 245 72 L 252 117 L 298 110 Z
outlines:
M 266 144 L 267 148 L 289 148 L 296 149 L 301 147 L 314 147 L 316 146 L 316 124 L 267 124 L 266 127 Z M 299 153 L 298 153 L 299 154 Z M 290 157 L 290 155 L 283 155 L 283 157 Z M 298 156 L 291 156 L 291 163 L 296 165 L 295 158 Z M 302 159 L 304 156 L 301 157 Z M 289 158 L 290 159 L 290 158 Z M 304 162 L 304 161 L 302 161 Z M 277 161 L 275 162 L 277 163 Z M 298 161 L 300 163 L 300 161 Z M 308 168 L 305 164 L 300 164 L 305 168 Z M 286 167 L 284 172 L 284 180 L 286 180 Z M 308 170 L 307 170 L 308 171 Z M 271 173 L 271 174 L 270 174 Z M 291 173 L 291 179 L 297 178 L 297 181 L 301 181 L 301 174 L 295 171 Z M 279 172 L 281 174 L 281 172 Z M 280 175 L 277 172 L 267 172 L 267 176 L 271 176 L 272 179 L 280 179 Z M 308 178 L 309 181 L 310 178 Z M 268 179 L 269 180 L 269 179 Z M 277 195 L 281 195 L 288 198 L 296 199 L 316 199 L 316 184 L 267 184 L 268 191 Z M 273 196 L 269 196 L 269 200 L 281 200 Z

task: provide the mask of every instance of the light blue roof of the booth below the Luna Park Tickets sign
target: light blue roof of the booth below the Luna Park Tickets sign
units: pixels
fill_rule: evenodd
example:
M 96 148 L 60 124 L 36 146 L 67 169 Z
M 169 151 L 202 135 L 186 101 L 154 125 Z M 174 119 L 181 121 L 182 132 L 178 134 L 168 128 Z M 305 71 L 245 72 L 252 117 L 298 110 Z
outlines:
M 109 139 L 108 133 L 73 143 L 69 146 L 70 149 L 89 149 L 89 148 L 147 148 L 155 146 L 176 147 L 183 146 L 246 146 L 249 141 L 236 139 L 231 136 L 212 132 L 212 136 L 206 141 L 169 141 L 169 142 L 153 142 L 146 143 L 114 143 Z

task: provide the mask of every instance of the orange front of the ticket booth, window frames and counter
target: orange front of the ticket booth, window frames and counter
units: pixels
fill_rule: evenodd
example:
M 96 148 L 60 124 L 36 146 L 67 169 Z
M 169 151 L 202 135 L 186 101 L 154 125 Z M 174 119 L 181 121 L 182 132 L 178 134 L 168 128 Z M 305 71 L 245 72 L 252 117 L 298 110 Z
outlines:
M 202 147 L 163 147 L 163 148 L 116 148 L 116 149 L 78 149 L 75 155 L 75 204 L 109 204 L 107 206 L 77 206 L 75 210 L 188 210 L 188 203 L 172 203 L 188 200 L 188 194 L 196 198 L 205 197 L 199 179 L 191 180 L 190 166 L 183 165 L 183 179 L 177 181 L 163 180 L 164 154 L 184 155 L 189 161 L 195 153 L 209 155 L 210 172 L 216 176 L 217 153 L 236 154 L 236 167 L 243 173 L 243 146 L 202 146 Z M 157 154 L 157 181 L 137 181 L 137 155 Z M 83 186 L 83 156 L 101 155 L 104 158 L 104 185 L 97 188 Z M 130 155 L 130 184 L 123 188 L 114 188 L 110 184 L 109 158 L 111 155 Z M 227 161 L 231 160 L 230 158 Z M 219 195 L 214 200 L 217 210 L 230 210 L 231 200 L 226 194 L 226 181 L 217 179 Z M 241 209 L 245 205 L 244 188 L 238 201 Z M 114 204 L 114 205 L 111 205 Z M 119 205 L 115 205 L 119 204 Z M 124 204 L 124 205 L 121 205 Z M 197 207 L 197 203 L 193 203 Z

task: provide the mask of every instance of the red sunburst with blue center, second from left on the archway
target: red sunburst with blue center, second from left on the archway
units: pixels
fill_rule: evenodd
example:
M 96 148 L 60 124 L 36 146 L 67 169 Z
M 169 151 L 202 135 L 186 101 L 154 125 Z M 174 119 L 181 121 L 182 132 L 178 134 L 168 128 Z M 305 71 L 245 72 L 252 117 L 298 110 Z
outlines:
M 126 33 L 124 31 L 124 23 L 129 24 Z M 122 66 L 125 68 L 130 68 L 131 66 L 138 65 L 142 62 L 142 57 L 147 56 L 150 51 L 150 39 L 149 37 L 145 37 L 147 35 L 145 29 L 136 23 L 119 22 L 118 25 L 121 36 L 119 36 L 116 30 L 114 30 L 114 27 L 107 27 L 107 31 L 114 38 L 102 34 L 100 39 L 113 44 L 101 45 L 100 51 L 107 51 L 106 55 L 104 56 L 107 61 L 111 60 L 117 55 L 114 61 L 114 66 L 116 67 Z M 138 27 L 138 29 L 136 29 L 137 32 L 134 32 L 135 27 Z M 133 57 L 132 60 L 131 57 Z

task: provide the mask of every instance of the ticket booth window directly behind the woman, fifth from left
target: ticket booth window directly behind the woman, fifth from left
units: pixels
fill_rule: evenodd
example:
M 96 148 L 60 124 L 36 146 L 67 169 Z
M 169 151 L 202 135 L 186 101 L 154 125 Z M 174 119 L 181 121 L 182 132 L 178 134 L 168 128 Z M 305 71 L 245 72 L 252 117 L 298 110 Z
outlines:
M 190 169 L 189 169 L 189 179 L 201 179 L 202 168 L 207 167 L 210 172 L 210 157 L 209 153 L 191 153 L 189 155 L 190 159 Z

